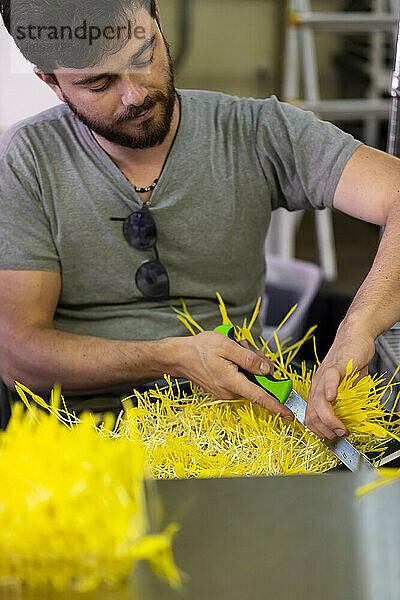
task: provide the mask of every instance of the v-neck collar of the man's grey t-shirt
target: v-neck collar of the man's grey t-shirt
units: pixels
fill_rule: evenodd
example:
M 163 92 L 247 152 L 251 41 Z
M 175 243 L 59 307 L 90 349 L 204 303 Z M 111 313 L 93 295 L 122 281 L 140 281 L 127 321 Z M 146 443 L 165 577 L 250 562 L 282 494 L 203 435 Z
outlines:
M 175 156 L 179 151 L 180 139 L 184 135 L 183 130 L 186 125 L 186 106 L 184 102 L 184 96 L 181 95 L 178 90 L 176 90 L 176 94 L 178 96 L 180 106 L 178 126 L 176 128 L 175 136 L 172 140 L 172 144 L 169 148 L 168 154 L 164 160 L 158 183 L 155 189 L 153 190 L 150 199 L 146 202 L 146 206 L 153 206 L 155 204 L 155 201 L 157 201 L 159 195 L 162 194 L 167 184 L 168 171 L 171 168 L 170 165 L 174 162 Z M 96 157 L 106 165 L 107 169 L 113 174 L 113 176 L 118 179 L 120 185 L 128 192 L 129 198 L 131 200 L 133 199 L 136 204 L 142 207 L 143 201 L 141 200 L 139 194 L 135 192 L 131 182 L 125 177 L 123 172 L 114 163 L 109 154 L 107 154 L 107 152 L 100 146 L 89 127 L 87 127 L 82 121 L 80 121 L 78 117 L 76 118 L 78 120 L 80 131 L 82 132 L 82 135 L 85 141 L 87 142 L 90 150 L 94 152 Z

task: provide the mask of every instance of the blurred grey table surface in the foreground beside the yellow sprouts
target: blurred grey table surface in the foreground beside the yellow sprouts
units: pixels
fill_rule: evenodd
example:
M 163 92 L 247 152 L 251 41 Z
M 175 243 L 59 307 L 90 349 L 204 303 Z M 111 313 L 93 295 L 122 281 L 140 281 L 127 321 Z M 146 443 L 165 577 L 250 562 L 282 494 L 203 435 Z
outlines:
M 157 482 L 162 515 L 153 511 L 154 522 L 180 525 L 181 591 L 142 566 L 135 583 L 119 590 L 20 598 L 399 600 L 400 481 L 357 500 L 357 488 L 373 478 L 336 472 Z

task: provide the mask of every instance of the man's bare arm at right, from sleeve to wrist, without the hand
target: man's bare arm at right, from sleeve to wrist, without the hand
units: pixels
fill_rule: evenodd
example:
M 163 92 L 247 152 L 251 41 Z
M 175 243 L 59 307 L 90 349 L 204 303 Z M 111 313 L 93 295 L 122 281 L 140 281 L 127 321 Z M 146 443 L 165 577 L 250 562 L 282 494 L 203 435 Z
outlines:
M 334 206 L 385 228 L 372 268 L 346 319 L 376 338 L 400 319 L 400 160 L 362 146 L 339 183 Z

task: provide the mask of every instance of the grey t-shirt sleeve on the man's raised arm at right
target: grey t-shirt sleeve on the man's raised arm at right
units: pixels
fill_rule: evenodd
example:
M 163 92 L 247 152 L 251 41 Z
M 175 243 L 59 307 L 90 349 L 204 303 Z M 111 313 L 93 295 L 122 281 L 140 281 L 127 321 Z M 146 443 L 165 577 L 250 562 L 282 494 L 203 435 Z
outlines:
M 276 97 L 265 101 L 256 152 L 271 186 L 272 209 L 331 208 L 343 170 L 360 145 L 310 111 Z

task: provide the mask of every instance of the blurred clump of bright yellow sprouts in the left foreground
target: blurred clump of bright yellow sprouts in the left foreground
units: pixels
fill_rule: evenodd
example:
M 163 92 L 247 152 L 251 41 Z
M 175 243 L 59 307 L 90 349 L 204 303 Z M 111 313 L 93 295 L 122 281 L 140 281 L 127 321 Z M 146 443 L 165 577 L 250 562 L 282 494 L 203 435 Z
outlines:
M 49 405 L 16 389 L 23 403 L 0 434 L 0 596 L 114 586 L 139 559 L 178 585 L 175 528 L 148 534 L 143 444 L 119 435 L 114 415 L 100 427 L 89 413 L 68 414 L 57 389 Z

